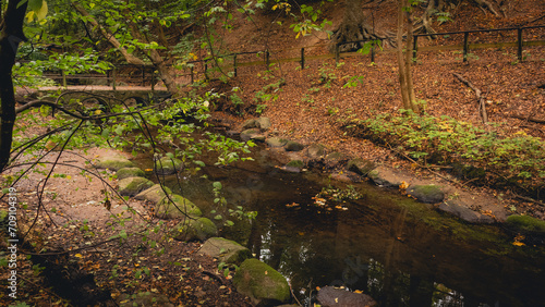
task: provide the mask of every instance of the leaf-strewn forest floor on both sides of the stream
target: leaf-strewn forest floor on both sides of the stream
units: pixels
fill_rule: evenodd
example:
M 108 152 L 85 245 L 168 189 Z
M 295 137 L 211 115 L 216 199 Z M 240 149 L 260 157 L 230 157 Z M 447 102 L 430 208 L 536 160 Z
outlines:
M 545 8 L 544 1 L 541 0 L 517 1 L 517 3 L 518 5 L 507 11 L 508 17 L 500 19 L 475 8 L 462 7 L 452 23 L 446 23 L 436 29 L 447 32 L 520 25 L 543 14 L 540 10 Z M 326 16 L 338 22 L 342 16 L 342 10 L 334 4 L 327 5 L 330 7 L 323 9 Z M 371 10 L 366 12 L 370 13 Z M 479 17 L 474 17 L 474 14 Z M 395 21 L 392 22 L 395 19 L 391 16 L 395 16 L 393 8 L 374 12 L 375 20 L 379 21 L 377 27 L 391 29 L 395 26 Z M 284 20 L 282 27 L 270 28 L 271 19 L 272 16 L 262 16 L 252 23 L 241 19 L 227 37 L 226 48 L 231 51 L 247 51 L 263 50 L 264 46 L 268 46 L 272 50 L 291 49 L 289 52 L 293 52 L 294 57 L 301 47 L 320 46 L 310 48 L 308 54 L 325 51 L 324 37 L 310 36 L 294 41 L 294 33 L 289 28 L 289 21 Z M 269 29 L 268 35 L 261 35 L 256 27 Z M 543 32 L 531 35 L 535 36 L 535 39 L 545 39 Z M 488 37 L 475 36 L 472 39 L 486 41 L 498 37 L 498 34 L 494 34 Z M 444 37 L 440 41 L 423 44 L 446 44 L 445 40 L 447 38 Z M 240 44 L 241 41 L 244 44 Z M 272 59 L 276 56 L 272 53 Z M 282 52 L 282 57 L 287 56 L 287 52 Z M 483 49 L 471 51 L 469 61 L 462 62 L 460 52 L 419 53 L 419 60 L 414 65 L 416 96 L 426 101 L 426 112 L 429 114 L 449 115 L 482 126 L 475 94 L 452 75 L 459 73 L 483 90 L 489 121 L 498 123 L 498 127 L 495 128 L 501 135 L 523 132 L 543 138 L 545 137 L 543 124 L 528 119 L 545 119 L 545 89 L 538 87 L 545 83 L 545 49 L 528 48 L 524 56 L 525 60 L 519 62 L 512 48 Z M 240 126 L 245 120 L 258 115 L 255 113 L 256 105 L 264 105 L 262 114 L 269 116 L 272 120 L 272 128 L 286 137 L 303 144 L 320 143 L 351 157 L 361 157 L 379 164 L 407 170 L 415 175 L 434 177 L 388 148 L 348 135 L 339 121 L 342 116 L 352 114 L 365 119 L 375 112 L 392 113 L 400 108 L 397 62 L 392 53 L 378 54 L 374 63 L 366 57 L 344 58 L 340 65 L 329 59 L 310 61 L 304 70 L 301 70 L 298 63 L 286 63 L 271 66 L 269 72 L 265 72 L 264 67 L 239 69 L 238 74 L 239 76 L 229 83 L 217 82 L 210 86 L 226 95 L 232 95 L 232 88 L 238 87 L 240 90 L 237 93 L 245 102 L 243 107 L 238 107 L 230 100 L 223 101 L 215 112 L 215 116 L 223 122 Z M 358 86 L 344 87 L 347 81 L 354 76 L 361 81 Z M 359 78 L 360 76 L 362 78 Z M 284 83 L 275 93 L 277 99 L 254 101 L 256 93 L 280 78 L 283 78 Z M 85 157 L 94 159 L 96 156 L 107 154 L 97 150 L 89 150 Z M 85 164 L 84 159 L 77 156 L 65 156 L 64 159 Z M 150 234 L 149 240 L 157 241 L 166 253 L 156 255 L 155 248 L 146 249 L 141 246 L 138 242 L 142 242 L 144 235 L 140 230 L 149 226 L 150 223 L 153 226 L 157 225 L 146 204 L 141 201 L 122 204 L 112 200 L 110 212 L 105 209 L 102 182 L 98 180 L 89 182 L 78 176 L 80 171 L 70 168 L 59 167 L 57 172 L 70 177 L 53 177 L 48 183 L 44 199 L 45 208 L 43 208 L 46 211 L 43 211 L 43 219 L 38 219 L 37 226 L 29 233 L 27 242 L 33 242 L 32 249 L 35 251 L 50 253 L 52 255 L 50 260 L 53 263 L 61 266 L 76 263 L 78 269 L 74 271 L 80 273 L 72 275 L 75 288 L 90 290 L 97 297 L 109 296 L 117 304 L 128 302 L 126 295 L 144 293 L 160 302 L 156 303 L 156 306 L 168 306 L 162 299 L 177 306 L 251 306 L 246 298 L 237 293 L 229 279 L 217 274 L 218 263 L 214 259 L 196 253 L 198 243 L 165 241 Z M 17 186 L 19 201 L 28 205 L 22 210 L 23 212 L 20 212 L 26 221 L 33 221 L 38 209 L 36 182 L 39 182 L 38 177 L 31 177 Z M 516 206 L 518 213 L 545 218 L 543 208 L 530 201 L 521 201 L 508 191 L 492 189 L 486 183 L 465 188 L 472 193 L 502 197 L 501 204 L 507 207 L 506 210 L 510 210 L 508 209 L 510 206 Z M 119 238 L 109 238 L 119 233 L 119 223 L 122 222 L 120 219 L 129 217 L 123 214 L 130 214 L 124 206 L 135 210 L 130 226 L 141 235 L 131 236 L 120 243 Z M 117 224 L 109 224 L 112 220 L 110 214 L 118 214 Z M 169 226 L 171 225 L 165 224 L 161 228 Z M 59 242 L 62 245 L 59 245 Z M 100 242 L 106 243 L 95 246 Z M 93 247 L 82 248 L 89 245 Z M 71 250 L 70 258 L 66 250 Z M 44 274 L 37 274 L 39 268 L 33 268 L 25 256 L 20 255 L 17 269 L 20 300 L 35 306 L 65 306 L 68 304 L 65 298 L 76 292 L 61 295 L 58 290 L 52 288 L 56 282 L 61 281 L 53 279 L 46 282 Z M 149 274 L 145 268 L 149 268 Z M 2 286 L 8 278 L 7 274 L 7 271 L 2 271 L 0 275 Z M 86 274 L 95 277 L 97 286 L 88 282 Z M 78 299 L 83 297 L 75 297 L 73 302 Z M 113 300 L 109 303 L 112 306 Z M 0 304 L 7 306 L 13 304 L 13 300 L 3 294 L 0 296 Z

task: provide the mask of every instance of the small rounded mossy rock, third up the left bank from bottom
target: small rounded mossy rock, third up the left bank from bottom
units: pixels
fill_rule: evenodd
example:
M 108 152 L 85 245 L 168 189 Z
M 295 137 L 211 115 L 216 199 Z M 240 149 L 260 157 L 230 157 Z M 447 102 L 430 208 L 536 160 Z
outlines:
M 172 235 L 179 241 L 205 241 L 218 235 L 218 228 L 207 218 L 185 219 L 172 231 Z

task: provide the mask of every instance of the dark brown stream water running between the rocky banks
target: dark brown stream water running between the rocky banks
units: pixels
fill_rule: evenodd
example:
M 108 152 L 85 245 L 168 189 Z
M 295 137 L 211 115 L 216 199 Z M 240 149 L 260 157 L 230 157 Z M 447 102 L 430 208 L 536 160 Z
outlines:
M 256 160 L 205 170 L 231 206 L 258 211 L 223 235 L 282 273 L 304 306 L 326 285 L 362 291 L 379 306 L 545 306 L 543 246 L 514 246 L 514 234 L 497 226 L 464 224 L 366 183 L 348 210 L 326 211 L 312 197 L 343 184 L 283 172 L 265 150 Z M 211 180 L 169 185 L 210 210 Z

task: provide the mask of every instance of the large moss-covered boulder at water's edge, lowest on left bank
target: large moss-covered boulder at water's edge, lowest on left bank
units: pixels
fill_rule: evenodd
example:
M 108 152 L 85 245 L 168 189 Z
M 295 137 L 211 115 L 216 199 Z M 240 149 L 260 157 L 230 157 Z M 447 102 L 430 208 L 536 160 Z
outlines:
M 290 299 L 288 281 L 278 271 L 257 259 L 246 259 L 233 277 L 239 293 L 254 305 L 278 305 Z

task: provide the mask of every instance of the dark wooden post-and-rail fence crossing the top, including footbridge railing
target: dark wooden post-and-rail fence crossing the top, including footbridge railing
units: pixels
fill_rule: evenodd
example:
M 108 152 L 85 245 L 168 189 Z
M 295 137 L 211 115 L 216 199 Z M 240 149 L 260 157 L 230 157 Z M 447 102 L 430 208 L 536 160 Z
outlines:
M 462 51 L 463 54 L 463 62 L 468 61 L 468 54 L 469 50 L 472 49 L 488 49 L 488 48 L 506 48 L 506 47 L 516 47 L 517 48 L 517 58 L 519 61 L 523 61 L 523 48 L 524 47 L 535 47 L 535 46 L 545 46 L 545 40 L 524 40 L 523 39 L 523 32 L 526 29 L 535 29 L 535 28 L 545 28 L 545 25 L 537 25 L 537 26 L 523 26 L 523 27 L 507 27 L 507 28 L 491 28 L 491 29 L 472 29 L 472 30 L 460 30 L 460 32 L 445 32 L 445 33 L 435 33 L 435 34 L 415 34 L 414 35 L 414 41 L 413 41 L 413 59 L 416 59 L 417 52 L 422 51 L 439 51 L 439 50 L 460 50 Z M 517 40 L 516 41 L 508 41 L 508 42 L 481 42 L 481 44 L 470 44 L 469 42 L 469 37 L 470 34 L 475 34 L 475 33 L 495 33 L 495 32 L 517 32 Z M 419 37 L 439 37 L 439 36 L 446 36 L 446 35 L 463 35 L 463 42 L 462 45 L 440 45 L 440 46 L 422 46 L 419 47 Z M 361 53 L 358 52 L 340 52 L 340 47 L 343 45 L 348 44 L 354 44 L 354 42 L 365 42 L 367 40 L 358 40 L 358 41 L 347 41 L 342 44 L 337 44 L 335 46 L 335 53 L 325 53 L 325 54 L 317 54 L 317 56 L 306 56 L 306 50 L 310 48 L 316 48 L 316 47 L 324 47 L 324 46 L 310 46 L 310 47 L 303 47 L 300 49 L 299 57 L 296 58 L 272 58 L 271 54 L 280 54 L 286 52 L 287 50 L 298 50 L 295 48 L 290 48 L 287 50 L 258 50 L 258 51 L 244 51 L 244 52 L 233 52 L 233 53 L 228 53 L 228 54 L 218 54 L 215 58 L 211 59 L 203 59 L 203 60 L 195 60 L 195 61 L 190 61 L 186 63 L 186 67 L 184 71 L 189 70 L 189 73 L 185 74 L 179 74 L 178 76 L 187 76 L 190 78 L 190 84 L 193 84 L 195 82 L 196 75 L 202 74 L 206 79 L 210 79 L 209 74 L 211 73 L 213 70 L 210 70 L 210 66 L 215 66 L 214 69 L 219 69 L 219 70 L 232 70 L 232 73 L 234 76 L 238 75 L 238 69 L 239 67 L 244 67 L 244 66 L 255 66 L 255 65 L 265 65 L 266 67 L 269 67 L 270 64 L 272 63 L 288 63 L 288 62 L 299 62 L 301 64 L 301 69 L 305 69 L 305 63 L 310 60 L 320 60 L 320 59 L 336 59 L 336 62 L 339 62 L 340 58 L 346 58 L 346 57 L 361 57 Z M 376 54 L 379 53 L 392 53 L 396 52 L 395 49 L 390 50 L 383 50 L 379 49 L 377 50 L 376 48 L 372 47 L 371 48 L 371 61 L 375 62 L 375 57 Z M 240 61 L 240 58 L 243 56 L 255 56 L 257 58 L 262 58 L 262 60 L 257 61 Z M 230 59 L 232 63 L 230 64 L 225 64 L 221 63 L 218 64 L 218 59 L 222 59 L 221 62 L 225 61 L 225 59 Z M 66 85 L 66 78 L 101 78 L 106 79 L 108 84 L 110 84 L 113 89 L 116 89 L 117 81 L 120 78 L 119 75 L 119 69 L 120 67 L 134 67 L 140 70 L 141 75 L 138 76 L 132 76 L 133 79 L 137 79 L 140 83 L 143 85 L 146 83 L 149 83 L 152 85 L 152 90 L 154 90 L 154 85 L 157 79 L 156 76 L 156 67 L 154 65 L 132 65 L 132 64 L 123 64 L 123 65 L 118 65 L 116 69 L 108 71 L 107 75 L 100 75 L 96 76 L 95 74 L 85 74 L 85 75 L 65 75 L 63 72 L 61 72 L 60 76 L 59 74 L 57 75 L 50 75 L 48 77 L 50 78 L 56 78 L 56 79 L 62 79 L 63 85 Z M 201 70 L 199 70 L 201 69 Z M 150 72 L 150 74 L 147 76 L 147 72 Z M 125 78 L 126 79 L 126 78 Z

